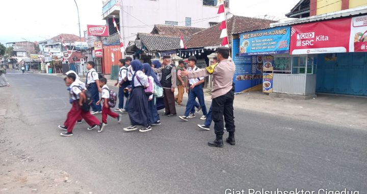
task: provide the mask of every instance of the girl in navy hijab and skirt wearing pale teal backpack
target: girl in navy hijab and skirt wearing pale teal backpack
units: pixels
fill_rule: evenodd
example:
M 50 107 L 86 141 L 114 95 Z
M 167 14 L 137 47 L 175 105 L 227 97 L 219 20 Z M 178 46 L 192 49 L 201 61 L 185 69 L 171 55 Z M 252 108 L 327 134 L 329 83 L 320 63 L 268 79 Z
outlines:
M 153 88 L 155 85 L 162 87 L 161 83 L 159 82 L 158 78 L 156 77 L 148 63 L 143 64 L 143 71 L 144 74 L 148 76 L 149 84 L 152 84 Z M 161 125 L 161 118 L 155 105 L 155 95 L 153 93 L 148 96 L 148 125 Z M 145 129 L 141 129 L 140 132 L 145 132 Z

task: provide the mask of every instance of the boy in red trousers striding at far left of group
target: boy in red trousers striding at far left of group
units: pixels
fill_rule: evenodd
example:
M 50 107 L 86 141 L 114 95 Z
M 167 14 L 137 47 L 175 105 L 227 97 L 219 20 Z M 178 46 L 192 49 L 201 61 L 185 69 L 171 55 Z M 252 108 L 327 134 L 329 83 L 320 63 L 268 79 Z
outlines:
M 69 74 L 65 78 L 65 84 L 69 86 L 70 93 L 70 103 L 72 107 L 67 114 L 67 132 L 61 133 L 61 136 L 72 136 L 72 130 L 75 126 L 76 120 L 78 117 L 82 116 L 86 120 L 88 124 L 91 124 L 92 127 L 87 128 L 87 130 L 93 130 L 96 127 L 100 128 L 99 120 L 93 116 L 90 111 L 83 111 L 82 105 L 83 101 L 86 99 L 85 93 L 82 91 L 83 89 L 79 86 L 77 82 L 75 82 L 76 77 L 74 74 Z

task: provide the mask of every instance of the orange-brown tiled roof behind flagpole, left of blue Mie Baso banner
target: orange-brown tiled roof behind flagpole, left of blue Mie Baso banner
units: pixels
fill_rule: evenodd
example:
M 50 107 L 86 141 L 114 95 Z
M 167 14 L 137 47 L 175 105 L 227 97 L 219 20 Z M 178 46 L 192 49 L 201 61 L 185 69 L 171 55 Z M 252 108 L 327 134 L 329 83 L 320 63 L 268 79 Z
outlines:
M 273 22 L 273 20 L 268 19 L 233 16 L 227 20 L 228 35 L 269 28 L 270 23 Z M 219 27 L 220 23 L 192 35 L 187 43 L 187 47 L 219 46 L 222 43 L 222 39 L 219 38 L 221 34 Z

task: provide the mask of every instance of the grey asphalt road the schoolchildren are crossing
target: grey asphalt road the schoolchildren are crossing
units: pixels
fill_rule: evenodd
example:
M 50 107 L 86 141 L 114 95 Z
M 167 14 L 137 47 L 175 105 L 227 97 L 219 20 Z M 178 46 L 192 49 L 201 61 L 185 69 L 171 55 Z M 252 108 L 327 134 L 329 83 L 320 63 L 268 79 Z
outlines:
M 186 123 L 162 117 L 161 126 L 141 133 L 122 130 L 129 126 L 124 115 L 120 125 L 109 118 L 102 133 L 87 131 L 84 123 L 72 137 L 61 137 L 57 125 L 70 109 L 62 78 L 17 71 L 7 77 L 11 87 L 0 88 L 0 95 L 9 101 L 0 109 L 20 115 L 6 125 L 9 136 L 34 157 L 83 180 L 93 193 L 225 193 L 227 188 L 367 193 L 367 131 L 236 107 L 237 145 L 225 143 L 222 149 L 207 146 L 213 126 L 199 130 L 199 117 Z

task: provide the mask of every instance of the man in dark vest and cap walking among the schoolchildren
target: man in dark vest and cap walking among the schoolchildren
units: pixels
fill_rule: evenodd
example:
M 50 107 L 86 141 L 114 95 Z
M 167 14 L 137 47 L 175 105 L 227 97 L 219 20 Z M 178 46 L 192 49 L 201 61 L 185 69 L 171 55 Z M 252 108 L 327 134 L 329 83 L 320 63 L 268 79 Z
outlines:
M 171 56 L 163 56 L 163 66 L 161 68 L 153 68 L 153 70 L 156 73 L 162 73 L 161 85 L 163 87 L 163 100 L 166 108 L 164 116 L 177 116 L 174 102 L 174 90 L 177 87 L 176 66 L 171 63 Z

